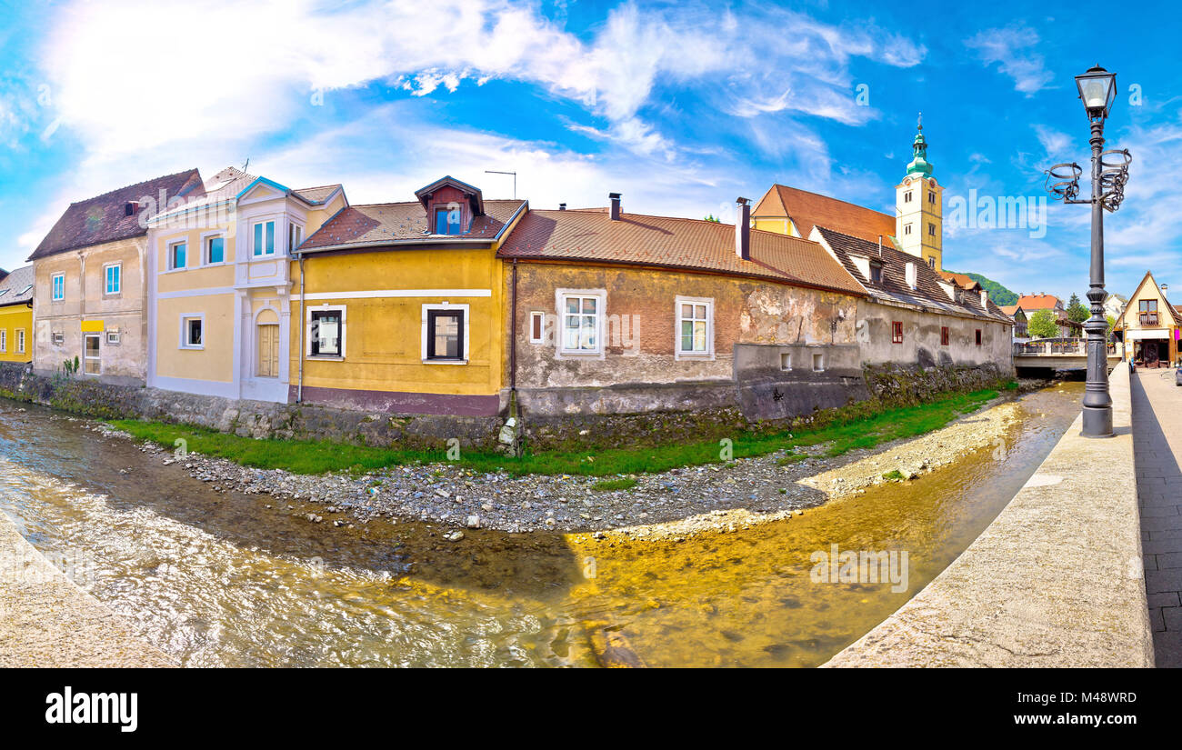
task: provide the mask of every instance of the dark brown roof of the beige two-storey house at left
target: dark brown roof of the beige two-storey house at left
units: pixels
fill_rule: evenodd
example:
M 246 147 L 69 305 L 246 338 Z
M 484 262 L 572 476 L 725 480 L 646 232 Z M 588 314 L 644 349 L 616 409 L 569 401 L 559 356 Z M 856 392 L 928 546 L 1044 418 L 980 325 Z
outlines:
M 124 209 L 129 201 L 158 201 L 161 190 L 173 200 L 203 195 L 204 188 L 197 170 L 189 169 L 71 203 L 28 260 L 148 234 L 139 226 L 139 214 L 126 216 Z

